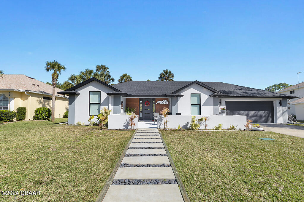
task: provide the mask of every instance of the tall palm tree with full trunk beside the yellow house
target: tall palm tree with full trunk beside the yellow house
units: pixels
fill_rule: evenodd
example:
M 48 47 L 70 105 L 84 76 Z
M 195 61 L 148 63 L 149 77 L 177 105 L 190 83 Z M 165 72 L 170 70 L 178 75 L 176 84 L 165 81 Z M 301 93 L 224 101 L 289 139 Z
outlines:
M 52 95 L 52 121 L 55 121 L 55 89 L 58 81 L 58 77 L 61 74 L 61 71 L 65 71 L 66 67 L 60 64 L 57 61 L 46 62 L 45 63 L 45 71 L 53 72 L 52 73 L 52 86 L 53 86 L 53 95 Z

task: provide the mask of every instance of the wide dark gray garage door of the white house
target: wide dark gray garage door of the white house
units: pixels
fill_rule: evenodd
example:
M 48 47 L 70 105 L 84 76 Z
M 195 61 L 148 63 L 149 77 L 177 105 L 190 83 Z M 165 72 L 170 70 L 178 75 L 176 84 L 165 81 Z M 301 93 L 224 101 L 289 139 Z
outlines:
M 226 115 L 244 115 L 253 123 L 275 123 L 272 101 L 226 101 Z

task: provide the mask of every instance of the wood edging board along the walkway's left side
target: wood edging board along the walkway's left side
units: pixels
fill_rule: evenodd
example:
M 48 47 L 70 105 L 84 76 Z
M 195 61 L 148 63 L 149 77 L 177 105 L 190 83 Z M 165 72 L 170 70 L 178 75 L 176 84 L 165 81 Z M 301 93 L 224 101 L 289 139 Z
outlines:
M 97 199 L 96 199 L 96 202 L 101 202 L 101 201 L 103 200 L 103 198 L 105 197 L 105 194 L 107 193 L 107 191 L 108 191 L 110 185 L 112 184 L 112 180 L 114 179 L 114 176 L 115 176 L 115 174 L 116 174 L 116 172 L 117 172 L 117 170 L 118 170 L 118 168 L 119 168 L 119 165 L 120 165 L 121 162 L 123 161 L 123 157 L 125 157 L 126 152 L 127 152 L 128 148 L 129 148 L 130 143 L 132 142 L 132 140 L 133 140 L 133 138 L 134 138 L 136 132 L 137 132 L 137 129 L 135 130 L 135 132 L 133 133 L 133 135 L 132 135 L 130 141 L 128 142 L 128 144 L 126 145 L 125 149 L 123 150 L 123 153 L 121 154 L 119 160 L 117 161 L 116 166 L 114 167 L 114 169 L 113 169 L 112 173 L 110 174 L 108 180 L 106 181 L 106 183 L 105 183 L 105 185 L 103 186 L 101 192 L 99 193 L 99 195 L 98 195 L 98 197 L 97 197 Z

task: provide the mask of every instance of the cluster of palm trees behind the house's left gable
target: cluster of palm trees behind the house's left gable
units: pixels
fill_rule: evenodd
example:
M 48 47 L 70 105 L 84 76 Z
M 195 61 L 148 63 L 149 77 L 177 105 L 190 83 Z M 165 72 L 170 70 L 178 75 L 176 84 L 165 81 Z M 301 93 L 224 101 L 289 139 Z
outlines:
M 109 67 L 105 65 L 96 65 L 95 72 L 93 69 L 85 69 L 85 71 L 79 72 L 78 75 L 71 74 L 71 76 L 64 81 L 63 87 L 65 89 L 71 88 L 81 82 L 91 79 L 92 77 L 95 77 L 107 84 L 115 82 L 115 79 L 110 75 Z

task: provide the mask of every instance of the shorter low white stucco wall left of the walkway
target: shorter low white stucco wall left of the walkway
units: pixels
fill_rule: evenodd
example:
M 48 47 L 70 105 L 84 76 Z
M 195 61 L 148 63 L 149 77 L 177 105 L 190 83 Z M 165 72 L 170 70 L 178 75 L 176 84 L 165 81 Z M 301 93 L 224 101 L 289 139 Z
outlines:
M 119 115 L 113 114 L 109 115 L 108 119 L 108 129 L 131 129 L 129 126 L 131 115 Z M 134 129 L 138 128 L 138 115 L 135 118 L 135 126 Z

